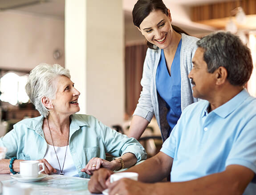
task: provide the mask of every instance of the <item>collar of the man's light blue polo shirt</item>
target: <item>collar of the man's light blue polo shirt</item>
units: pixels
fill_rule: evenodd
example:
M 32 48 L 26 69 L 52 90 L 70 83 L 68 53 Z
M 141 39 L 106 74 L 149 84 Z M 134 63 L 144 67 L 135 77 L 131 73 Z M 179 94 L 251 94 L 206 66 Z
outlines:
M 234 98 L 227 101 L 225 104 L 219 106 L 218 108 L 212 110 L 212 112 L 219 115 L 219 117 L 225 118 L 230 113 L 232 113 L 240 104 L 244 102 L 246 98 L 248 98 L 250 94 L 247 92 L 246 89 L 243 89 L 239 94 L 237 94 Z M 207 105 L 204 108 L 203 116 L 207 115 L 207 108 L 209 106 L 209 102 L 207 102 Z M 202 116 L 202 117 L 203 117 Z

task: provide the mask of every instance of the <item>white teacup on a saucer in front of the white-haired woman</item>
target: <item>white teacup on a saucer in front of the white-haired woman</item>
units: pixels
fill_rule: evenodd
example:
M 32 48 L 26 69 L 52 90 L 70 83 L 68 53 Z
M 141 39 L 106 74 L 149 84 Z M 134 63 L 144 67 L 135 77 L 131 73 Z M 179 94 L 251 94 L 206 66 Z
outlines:
M 42 170 L 39 171 L 39 167 Z M 20 162 L 20 175 L 24 178 L 37 178 L 38 174 L 45 171 L 45 164 L 40 163 L 38 160 L 24 160 Z

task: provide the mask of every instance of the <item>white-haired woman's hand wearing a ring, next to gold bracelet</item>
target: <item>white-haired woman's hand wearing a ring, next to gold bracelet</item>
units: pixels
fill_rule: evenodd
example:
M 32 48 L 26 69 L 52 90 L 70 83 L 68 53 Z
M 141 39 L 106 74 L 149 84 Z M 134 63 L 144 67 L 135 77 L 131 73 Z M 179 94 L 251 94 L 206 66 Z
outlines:
M 86 172 L 88 175 L 93 175 L 93 172 L 98 170 L 101 167 L 108 168 L 112 171 L 118 169 L 120 163 L 117 160 L 112 160 L 111 162 L 108 160 L 104 160 L 101 158 L 92 158 L 85 165 L 85 168 L 81 169 L 81 172 Z

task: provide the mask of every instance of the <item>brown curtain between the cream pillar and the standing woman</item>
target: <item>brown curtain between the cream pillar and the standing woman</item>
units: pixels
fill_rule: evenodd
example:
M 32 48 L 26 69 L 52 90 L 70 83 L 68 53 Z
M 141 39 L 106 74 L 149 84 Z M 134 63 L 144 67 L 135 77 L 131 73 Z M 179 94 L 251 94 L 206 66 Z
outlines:
M 125 110 L 126 117 L 132 116 L 138 103 L 142 86 L 143 62 L 146 56 L 147 46 L 145 44 L 126 46 L 125 54 Z

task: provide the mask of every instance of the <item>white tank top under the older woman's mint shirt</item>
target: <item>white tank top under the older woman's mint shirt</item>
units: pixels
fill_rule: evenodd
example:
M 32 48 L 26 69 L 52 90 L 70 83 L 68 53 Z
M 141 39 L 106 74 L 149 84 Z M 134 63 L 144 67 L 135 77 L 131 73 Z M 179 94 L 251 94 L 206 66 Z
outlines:
M 55 146 L 55 150 L 56 150 L 56 153 L 57 153 L 60 165 L 61 165 L 61 169 L 62 169 L 63 161 L 65 158 L 66 146 L 63 146 L 63 147 Z M 56 157 L 56 154 L 54 152 L 54 148 L 52 145 L 47 144 L 47 150 L 46 150 L 44 158 L 49 162 L 50 165 L 53 166 L 53 168 L 55 168 L 57 170 L 56 174 L 61 173 L 60 166 L 58 164 L 58 160 L 57 160 L 57 157 Z M 67 176 L 78 177 L 78 172 L 77 172 L 77 169 L 73 162 L 73 159 L 72 159 L 72 156 L 71 156 L 71 153 L 69 150 L 69 145 L 67 148 L 67 154 L 66 154 L 65 164 L 64 164 L 64 168 L 63 168 L 63 174 L 67 175 Z

